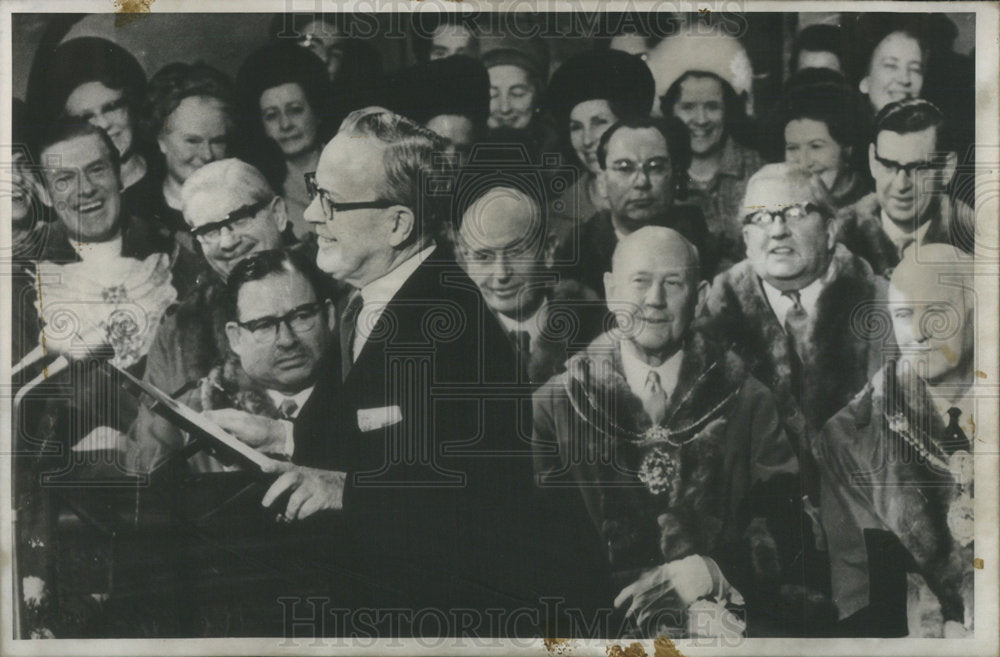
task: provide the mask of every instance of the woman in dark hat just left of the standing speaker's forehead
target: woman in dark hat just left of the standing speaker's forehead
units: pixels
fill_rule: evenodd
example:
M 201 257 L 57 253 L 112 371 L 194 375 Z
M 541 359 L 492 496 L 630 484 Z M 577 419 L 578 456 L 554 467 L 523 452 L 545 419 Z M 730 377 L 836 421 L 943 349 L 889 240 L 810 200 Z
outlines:
M 309 205 L 305 174 L 316 170 L 334 126 L 330 82 L 316 57 L 288 43 L 250 54 L 236 76 L 248 160 L 285 199 L 298 239 L 312 233 L 302 217 Z

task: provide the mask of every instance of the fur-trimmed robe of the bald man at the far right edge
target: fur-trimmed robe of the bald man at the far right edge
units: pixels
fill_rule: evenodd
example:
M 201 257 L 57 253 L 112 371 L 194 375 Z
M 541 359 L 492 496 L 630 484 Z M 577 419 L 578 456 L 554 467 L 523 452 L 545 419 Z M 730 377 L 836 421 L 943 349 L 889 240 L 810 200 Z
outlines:
M 953 534 L 956 518 L 949 524 L 949 511 L 960 510 L 951 509 L 960 497 L 953 473 L 919 458 L 905 438 L 945 446 L 944 421 L 922 382 L 903 385 L 894 371 L 886 365 L 817 441 L 834 601 L 850 635 L 903 636 L 909 625 L 941 636 L 944 621 L 972 617 L 973 543 Z M 940 613 L 908 624 L 908 587 L 929 588 L 920 597 L 936 599 Z

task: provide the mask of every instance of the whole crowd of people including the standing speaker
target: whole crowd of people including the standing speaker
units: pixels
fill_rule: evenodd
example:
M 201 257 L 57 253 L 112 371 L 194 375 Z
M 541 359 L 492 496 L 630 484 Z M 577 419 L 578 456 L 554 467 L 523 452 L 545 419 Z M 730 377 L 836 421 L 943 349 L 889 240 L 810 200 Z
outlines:
M 303 568 L 337 607 L 972 632 L 974 90 L 951 53 L 935 102 L 926 22 L 807 27 L 751 105 L 721 33 L 664 80 L 680 37 L 551 63 L 453 16 L 383 72 L 325 18 L 235 79 L 70 39 L 15 99 L 27 633 L 79 632 L 40 611 L 44 476 L 95 450 L 98 479 L 240 467 L 104 360 L 267 455 L 261 503 L 327 527 Z

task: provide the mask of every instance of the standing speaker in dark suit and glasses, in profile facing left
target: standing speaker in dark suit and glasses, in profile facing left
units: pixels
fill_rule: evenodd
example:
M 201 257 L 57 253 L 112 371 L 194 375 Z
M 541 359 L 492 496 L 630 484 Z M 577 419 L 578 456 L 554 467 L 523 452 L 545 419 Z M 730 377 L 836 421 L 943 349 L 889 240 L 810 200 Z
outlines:
M 530 435 L 513 419 L 516 360 L 475 284 L 434 239 L 446 176 L 435 133 L 381 108 L 349 115 L 308 179 L 317 264 L 354 288 L 340 367 L 295 420 L 292 463 L 262 503 L 336 528 L 330 588 L 348 609 L 538 604 L 543 541 L 531 530 Z M 447 199 L 442 199 L 447 200 Z M 523 394 L 526 394 L 523 393 Z M 253 444 L 252 430 L 226 425 Z M 347 622 L 350 622 L 350 618 Z M 537 632 L 501 615 L 480 634 Z M 404 613 L 386 634 L 455 634 Z M 351 631 L 342 628 L 341 632 Z

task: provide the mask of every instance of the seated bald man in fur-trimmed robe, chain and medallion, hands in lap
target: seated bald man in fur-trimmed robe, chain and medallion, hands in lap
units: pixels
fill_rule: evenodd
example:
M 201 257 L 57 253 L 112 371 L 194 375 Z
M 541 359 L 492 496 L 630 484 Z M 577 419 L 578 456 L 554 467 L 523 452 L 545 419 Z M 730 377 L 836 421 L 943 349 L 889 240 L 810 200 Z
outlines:
M 617 593 L 604 606 L 632 636 L 754 636 L 782 605 L 806 613 L 784 597 L 801 590 L 783 569 L 798 462 L 772 394 L 693 330 L 698 272 L 672 229 L 624 237 L 605 275 L 615 328 L 533 400 L 539 485 L 584 518 L 566 531 L 602 552 Z

